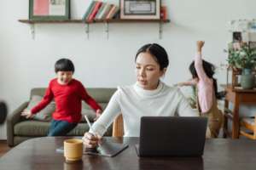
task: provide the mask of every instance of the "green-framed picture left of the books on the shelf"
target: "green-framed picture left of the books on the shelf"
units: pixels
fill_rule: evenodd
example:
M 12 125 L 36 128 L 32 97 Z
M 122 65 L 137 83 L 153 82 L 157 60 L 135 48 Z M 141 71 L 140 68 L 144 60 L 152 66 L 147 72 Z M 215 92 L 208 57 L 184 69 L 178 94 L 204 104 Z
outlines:
M 68 20 L 70 0 L 29 0 L 29 20 Z

